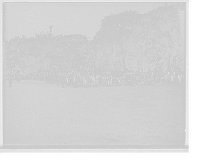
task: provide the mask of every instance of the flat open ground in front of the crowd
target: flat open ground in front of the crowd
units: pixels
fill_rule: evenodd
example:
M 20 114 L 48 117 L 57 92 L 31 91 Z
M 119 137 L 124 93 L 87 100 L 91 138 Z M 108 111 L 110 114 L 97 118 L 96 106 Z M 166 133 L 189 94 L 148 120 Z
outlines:
M 185 86 L 3 83 L 4 145 L 182 146 Z

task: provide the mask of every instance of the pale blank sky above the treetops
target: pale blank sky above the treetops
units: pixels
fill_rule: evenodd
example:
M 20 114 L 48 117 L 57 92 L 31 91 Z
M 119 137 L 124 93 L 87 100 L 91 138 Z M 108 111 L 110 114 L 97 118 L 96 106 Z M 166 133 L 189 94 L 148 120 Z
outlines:
M 178 5 L 179 3 L 168 3 Z M 49 31 L 53 35 L 82 34 L 92 40 L 99 31 L 101 20 L 126 10 L 146 13 L 165 3 L 4 3 L 3 37 L 33 37 Z

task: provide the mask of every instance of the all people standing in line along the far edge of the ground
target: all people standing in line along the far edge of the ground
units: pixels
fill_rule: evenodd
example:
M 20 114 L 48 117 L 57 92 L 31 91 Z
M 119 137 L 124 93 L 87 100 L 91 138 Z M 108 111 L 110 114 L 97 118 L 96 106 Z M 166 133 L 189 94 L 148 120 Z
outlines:
M 183 72 L 180 69 L 175 68 L 170 71 L 162 71 L 163 72 L 163 80 L 168 83 L 182 83 L 184 79 Z M 17 82 L 20 82 L 24 75 L 24 72 L 21 74 L 19 70 L 14 74 L 12 69 L 8 73 L 9 86 L 12 86 L 12 81 L 14 77 Z M 37 73 L 33 72 L 32 79 L 42 80 L 47 84 L 57 84 L 64 88 L 65 86 L 73 86 L 76 87 L 90 87 L 96 86 L 99 84 L 104 84 L 107 86 L 116 85 L 125 85 L 124 76 L 125 73 L 122 72 L 114 72 L 112 69 L 108 69 L 107 71 L 100 71 L 95 69 L 87 69 L 83 68 L 79 69 L 61 69 L 58 70 L 56 68 L 51 67 L 47 70 L 40 70 Z

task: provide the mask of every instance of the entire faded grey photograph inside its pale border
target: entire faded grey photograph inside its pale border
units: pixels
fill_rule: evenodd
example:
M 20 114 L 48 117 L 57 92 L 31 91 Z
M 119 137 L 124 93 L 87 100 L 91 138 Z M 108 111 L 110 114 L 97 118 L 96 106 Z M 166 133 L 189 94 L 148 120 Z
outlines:
M 3 146 L 187 148 L 186 2 L 5 2 Z

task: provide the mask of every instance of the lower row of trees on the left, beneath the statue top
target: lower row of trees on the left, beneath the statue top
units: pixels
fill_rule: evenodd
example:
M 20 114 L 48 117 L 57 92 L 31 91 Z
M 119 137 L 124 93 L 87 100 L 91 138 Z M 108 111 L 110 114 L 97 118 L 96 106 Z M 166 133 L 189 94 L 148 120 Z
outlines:
M 52 36 L 51 33 L 36 34 L 30 39 L 22 36 L 3 40 L 5 76 L 9 68 L 24 71 L 28 76 L 33 71 L 49 68 L 50 63 L 58 69 L 71 68 L 74 57 L 86 51 L 87 42 L 83 35 Z

